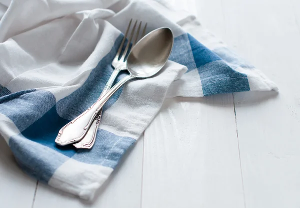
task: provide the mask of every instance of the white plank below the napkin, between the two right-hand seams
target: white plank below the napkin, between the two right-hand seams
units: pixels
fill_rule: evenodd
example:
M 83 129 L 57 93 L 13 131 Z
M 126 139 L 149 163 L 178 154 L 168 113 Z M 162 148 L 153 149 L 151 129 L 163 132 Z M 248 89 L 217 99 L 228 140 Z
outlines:
M 167 99 L 144 134 L 142 208 L 242 208 L 232 94 Z

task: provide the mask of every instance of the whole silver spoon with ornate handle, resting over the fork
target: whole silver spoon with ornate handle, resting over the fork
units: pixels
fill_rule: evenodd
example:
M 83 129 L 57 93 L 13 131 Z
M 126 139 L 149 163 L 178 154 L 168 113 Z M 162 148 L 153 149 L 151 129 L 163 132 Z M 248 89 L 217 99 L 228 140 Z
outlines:
M 135 78 L 148 78 L 161 70 L 166 63 L 173 46 L 173 34 L 168 27 L 161 27 L 149 32 L 130 51 L 126 68 L 129 75 L 117 82 L 103 97 L 95 102 L 87 113 L 74 119 L 74 122 L 61 129 L 55 139 L 60 146 L 72 144 L 82 140 L 97 113 L 105 102 L 124 83 Z M 63 137 L 68 134 L 67 137 Z M 67 139 L 65 139 L 67 138 Z M 68 138 L 73 138 L 69 140 Z

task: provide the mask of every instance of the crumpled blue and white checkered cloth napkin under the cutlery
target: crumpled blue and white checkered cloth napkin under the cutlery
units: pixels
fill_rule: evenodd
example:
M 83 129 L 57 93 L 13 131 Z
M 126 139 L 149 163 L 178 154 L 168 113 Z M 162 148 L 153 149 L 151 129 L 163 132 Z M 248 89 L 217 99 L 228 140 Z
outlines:
M 277 90 L 193 16 L 158 1 L 2 1 L 0 134 L 27 174 L 83 199 L 93 197 L 165 97 Z M 58 130 L 97 100 L 130 18 L 147 22 L 147 32 L 172 29 L 170 61 L 109 99 L 92 150 L 55 146 Z

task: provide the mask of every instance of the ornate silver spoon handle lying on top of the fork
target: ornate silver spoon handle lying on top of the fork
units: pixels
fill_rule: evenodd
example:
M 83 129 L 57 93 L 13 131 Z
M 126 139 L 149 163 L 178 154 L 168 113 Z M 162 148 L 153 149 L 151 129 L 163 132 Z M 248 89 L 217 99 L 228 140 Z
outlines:
M 124 83 L 135 78 L 129 74 L 117 82 L 110 90 L 107 91 L 99 100 L 97 100 L 84 113 L 76 117 L 70 123 L 62 127 L 55 139 L 55 143 L 60 146 L 65 146 L 78 142 L 83 139 L 89 129 L 92 121 L 99 113 L 105 102 L 115 93 Z

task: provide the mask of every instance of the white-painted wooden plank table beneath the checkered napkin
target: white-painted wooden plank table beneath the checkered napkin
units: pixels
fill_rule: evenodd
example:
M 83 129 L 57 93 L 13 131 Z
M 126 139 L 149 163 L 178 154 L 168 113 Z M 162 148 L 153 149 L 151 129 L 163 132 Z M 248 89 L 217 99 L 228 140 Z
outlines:
M 300 1 L 185 6 L 279 94 L 166 100 L 89 204 L 23 174 L 0 139 L 0 208 L 300 207 Z

